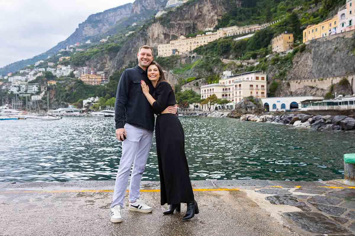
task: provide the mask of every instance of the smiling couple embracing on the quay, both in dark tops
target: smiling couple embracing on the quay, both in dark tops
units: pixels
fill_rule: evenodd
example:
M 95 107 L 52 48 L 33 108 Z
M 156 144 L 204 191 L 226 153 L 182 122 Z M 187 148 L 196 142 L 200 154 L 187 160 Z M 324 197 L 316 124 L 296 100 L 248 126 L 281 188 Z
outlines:
M 140 197 L 141 178 L 153 140 L 154 114 L 160 177 L 160 204 L 170 205 L 163 214 L 180 212 L 187 203 L 187 220 L 198 214 L 185 155 L 185 137 L 176 116 L 173 88 L 165 80 L 162 68 L 153 61 L 153 48 L 144 45 L 137 53 L 138 65 L 126 69 L 117 87 L 115 103 L 116 137 L 122 141 L 122 156 L 111 204 L 111 222 L 122 222 L 126 186 L 131 167 L 129 207 L 131 211 L 152 212 Z

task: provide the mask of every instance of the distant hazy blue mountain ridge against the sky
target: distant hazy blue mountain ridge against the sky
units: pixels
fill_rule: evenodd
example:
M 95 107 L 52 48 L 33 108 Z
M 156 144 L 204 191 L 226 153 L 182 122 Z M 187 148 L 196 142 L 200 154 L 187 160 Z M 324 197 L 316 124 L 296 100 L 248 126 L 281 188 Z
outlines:
M 5 75 L 15 72 L 27 65 L 34 64 L 39 60 L 47 59 L 60 49 L 86 40 L 98 41 L 107 35 L 119 33 L 132 23 L 143 21 L 162 10 L 167 0 L 136 0 L 133 3 L 125 4 L 104 12 L 90 15 L 86 21 L 80 23 L 78 28 L 66 40 L 59 42 L 56 46 L 30 59 L 11 63 L 0 68 L 0 74 Z

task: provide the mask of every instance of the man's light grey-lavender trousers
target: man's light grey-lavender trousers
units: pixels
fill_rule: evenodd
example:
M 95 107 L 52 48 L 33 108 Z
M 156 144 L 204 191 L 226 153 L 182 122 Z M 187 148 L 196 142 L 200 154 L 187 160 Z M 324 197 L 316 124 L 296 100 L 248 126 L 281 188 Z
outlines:
M 118 168 L 111 208 L 123 207 L 126 187 L 133 164 L 130 182 L 130 202 L 140 196 L 140 184 L 146 168 L 149 150 L 152 146 L 153 132 L 130 124 L 125 125 L 127 139 L 122 142 L 122 156 Z

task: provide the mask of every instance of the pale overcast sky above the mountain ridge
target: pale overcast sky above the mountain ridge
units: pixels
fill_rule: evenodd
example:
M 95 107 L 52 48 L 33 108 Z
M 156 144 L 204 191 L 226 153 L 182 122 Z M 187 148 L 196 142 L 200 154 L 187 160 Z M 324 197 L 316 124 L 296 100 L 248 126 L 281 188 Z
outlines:
M 134 0 L 0 0 L 0 68 L 68 38 L 91 14 Z

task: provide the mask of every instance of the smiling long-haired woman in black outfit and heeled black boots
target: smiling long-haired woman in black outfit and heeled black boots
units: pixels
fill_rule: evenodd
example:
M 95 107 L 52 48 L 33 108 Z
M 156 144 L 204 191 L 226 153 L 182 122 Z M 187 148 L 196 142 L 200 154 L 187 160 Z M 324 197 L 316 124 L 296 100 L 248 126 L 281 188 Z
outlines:
M 164 214 L 180 212 L 180 203 L 187 203 L 187 220 L 198 214 L 197 202 L 194 199 L 189 177 L 189 166 L 185 155 L 184 130 L 176 115 L 163 113 L 166 107 L 175 105 L 175 94 L 165 80 L 162 68 L 153 61 L 147 68 L 148 79 L 155 88 L 153 96 L 149 87 L 142 80 L 144 96 L 158 115 L 155 122 L 155 140 L 157 143 L 158 167 L 160 176 L 160 204 L 168 203 L 169 210 Z

